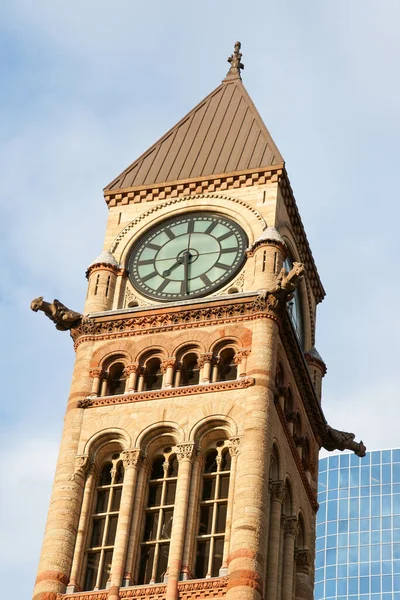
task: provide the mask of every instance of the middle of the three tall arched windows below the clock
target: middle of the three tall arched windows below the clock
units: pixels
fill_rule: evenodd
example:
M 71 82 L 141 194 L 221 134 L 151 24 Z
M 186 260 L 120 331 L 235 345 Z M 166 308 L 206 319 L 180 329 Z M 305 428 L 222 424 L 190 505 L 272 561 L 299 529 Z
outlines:
M 178 460 L 165 448 L 152 462 L 144 509 L 138 584 L 161 583 L 168 566 Z

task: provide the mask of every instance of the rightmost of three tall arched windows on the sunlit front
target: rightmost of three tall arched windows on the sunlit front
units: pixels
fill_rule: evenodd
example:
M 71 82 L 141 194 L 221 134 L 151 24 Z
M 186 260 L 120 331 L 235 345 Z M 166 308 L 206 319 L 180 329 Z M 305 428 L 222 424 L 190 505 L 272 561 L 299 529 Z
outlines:
M 222 566 L 231 456 L 224 441 L 206 454 L 197 535 L 195 577 L 218 577 Z

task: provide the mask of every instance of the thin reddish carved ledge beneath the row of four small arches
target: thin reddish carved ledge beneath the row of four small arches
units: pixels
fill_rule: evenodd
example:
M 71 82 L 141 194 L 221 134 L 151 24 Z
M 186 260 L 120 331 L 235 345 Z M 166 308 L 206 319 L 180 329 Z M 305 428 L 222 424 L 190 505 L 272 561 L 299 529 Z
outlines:
M 145 402 L 146 400 L 158 400 L 164 398 L 175 398 L 177 396 L 193 396 L 196 394 L 208 394 L 210 392 L 221 392 L 226 390 L 244 389 L 255 384 L 254 377 L 243 377 L 232 381 L 219 381 L 217 383 L 205 383 L 199 385 L 188 385 L 177 388 L 164 388 L 148 392 L 132 392 L 121 396 L 103 396 L 91 398 L 90 396 L 78 402 L 78 408 L 97 408 L 98 406 L 114 406 L 116 404 L 129 404 L 131 402 Z

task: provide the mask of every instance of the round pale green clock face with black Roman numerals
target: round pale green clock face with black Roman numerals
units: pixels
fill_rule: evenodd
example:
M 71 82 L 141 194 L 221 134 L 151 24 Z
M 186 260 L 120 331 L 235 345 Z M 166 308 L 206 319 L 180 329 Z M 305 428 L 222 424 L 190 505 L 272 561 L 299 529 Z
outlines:
M 204 296 L 227 283 L 245 258 L 247 237 L 222 215 L 189 213 L 151 229 L 129 259 L 133 286 L 156 300 Z

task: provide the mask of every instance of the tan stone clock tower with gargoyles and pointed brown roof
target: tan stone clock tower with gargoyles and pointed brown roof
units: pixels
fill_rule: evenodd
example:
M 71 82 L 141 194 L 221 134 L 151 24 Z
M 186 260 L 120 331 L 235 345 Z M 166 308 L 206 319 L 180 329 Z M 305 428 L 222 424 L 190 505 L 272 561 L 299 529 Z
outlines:
M 104 190 L 104 249 L 70 330 L 34 600 L 311 600 L 324 297 L 283 158 L 222 83 Z

